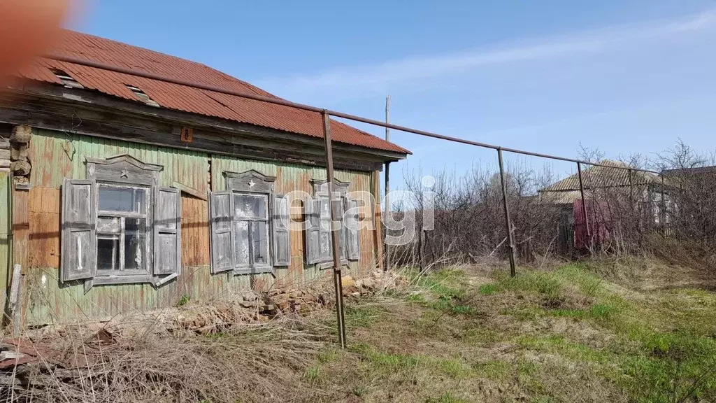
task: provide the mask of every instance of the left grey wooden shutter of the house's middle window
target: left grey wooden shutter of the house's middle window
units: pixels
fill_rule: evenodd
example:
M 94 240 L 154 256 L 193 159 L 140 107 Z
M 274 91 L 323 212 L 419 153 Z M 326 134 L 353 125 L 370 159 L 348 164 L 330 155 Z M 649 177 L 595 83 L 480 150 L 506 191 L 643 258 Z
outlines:
M 211 272 L 233 270 L 233 195 L 231 191 L 209 194 L 211 217 Z

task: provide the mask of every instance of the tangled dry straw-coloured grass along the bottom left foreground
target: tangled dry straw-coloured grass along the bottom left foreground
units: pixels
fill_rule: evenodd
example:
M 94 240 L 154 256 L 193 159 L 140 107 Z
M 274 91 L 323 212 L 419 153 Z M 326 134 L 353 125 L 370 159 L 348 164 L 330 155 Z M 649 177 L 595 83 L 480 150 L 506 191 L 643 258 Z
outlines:
M 329 339 L 329 329 L 311 318 L 241 324 L 198 335 L 147 328 L 135 337 L 90 336 L 64 329 L 61 340 L 45 340 L 63 351 L 52 357 L 69 371 L 44 361 L 26 366 L 31 387 L 5 390 L 17 402 L 288 402 L 309 401 L 319 392 L 301 374 Z M 277 381 L 278 380 L 278 381 Z

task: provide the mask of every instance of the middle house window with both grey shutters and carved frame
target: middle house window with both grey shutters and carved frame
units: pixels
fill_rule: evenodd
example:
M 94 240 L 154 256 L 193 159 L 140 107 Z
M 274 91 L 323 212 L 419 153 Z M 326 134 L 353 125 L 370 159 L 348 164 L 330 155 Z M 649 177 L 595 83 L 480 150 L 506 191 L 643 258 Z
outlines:
M 210 194 L 211 270 L 273 272 L 291 262 L 289 204 L 274 194 L 276 178 L 226 172 L 227 191 Z

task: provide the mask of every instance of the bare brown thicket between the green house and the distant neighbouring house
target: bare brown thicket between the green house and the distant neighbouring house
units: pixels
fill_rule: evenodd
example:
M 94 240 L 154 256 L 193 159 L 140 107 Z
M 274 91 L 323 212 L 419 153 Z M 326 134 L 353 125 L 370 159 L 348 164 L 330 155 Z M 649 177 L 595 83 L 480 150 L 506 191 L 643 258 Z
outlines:
M 549 169 L 536 170 L 526 163 L 508 166 L 505 173 L 516 254 L 523 260 L 536 260 L 558 246 L 558 208 L 538 196 L 538 190 L 552 178 Z M 411 207 L 415 209 L 415 224 L 420 229 L 422 210 L 425 209 L 420 175 L 407 175 L 405 182 L 413 195 Z M 425 266 L 435 262 L 474 262 L 479 257 L 507 256 L 502 184 L 496 169 L 473 166 L 465 176 L 441 172 L 435 174 L 435 186 L 430 191 L 433 194 L 434 229 L 425 231 L 422 239 L 417 237 L 412 245 L 396 248 L 403 253 L 403 260 L 422 260 L 419 263 Z M 420 250 L 422 259 L 414 255 L 420 255 Z

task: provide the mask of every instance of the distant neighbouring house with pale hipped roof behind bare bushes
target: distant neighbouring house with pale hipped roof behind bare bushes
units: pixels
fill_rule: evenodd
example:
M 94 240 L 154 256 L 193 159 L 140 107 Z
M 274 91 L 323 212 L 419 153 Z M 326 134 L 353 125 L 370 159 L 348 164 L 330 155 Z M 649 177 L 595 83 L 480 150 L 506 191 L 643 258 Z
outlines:
M 582 184 L 592 240 L 605 242 L 614 227 L 616 210 L 629 208 L 644 214 L 652 224 L 668 223 L 674 208 L 669 186 L 662 189 L 662 177 L 644 171 L 629 171 L 626 163 L 600 161 L 605 166 L 589 166 L 582 171 Z M 578 249 L 588 244 L 584 212 L 581 204 L 579 174 L 561 179 L 539 191 L 541 202 L 558 204 L 561 208 L 560 240 L 563 247 Z

